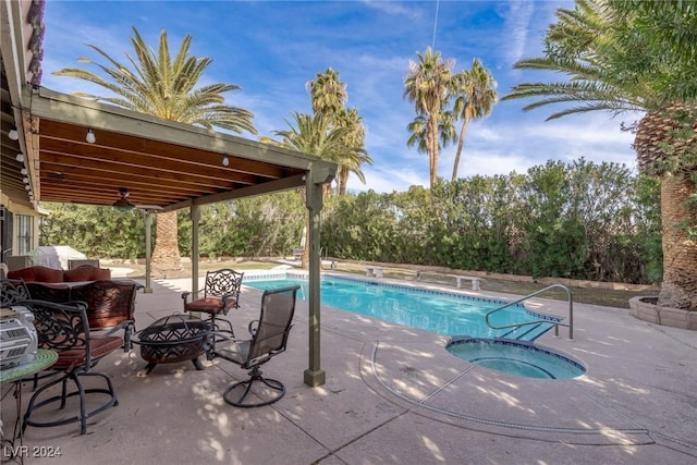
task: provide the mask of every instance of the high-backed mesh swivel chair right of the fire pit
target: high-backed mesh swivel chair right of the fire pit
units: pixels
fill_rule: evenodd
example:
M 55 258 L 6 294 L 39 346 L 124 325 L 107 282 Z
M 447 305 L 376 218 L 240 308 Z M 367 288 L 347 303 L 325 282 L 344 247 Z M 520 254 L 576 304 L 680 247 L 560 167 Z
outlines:
M 249 378 L 235 382 L 223 393 L 224 401 L 235 407 L 252 408 L 272 404 L 285 395 L 281 381 L 265 378 L 259 367 L 285 351 L 295 313 L 298 285 L 265 291 L 261 296 L 261 315 L 249 323 L 249 340 L 234 340 L 225 333 L 212 333 L 207 347 L 208 359 L 224 358 L 250 369 Z M 220 342 L 228 344 L 219 346 Z M 257 386 L 259 389 L 253 390 Z M 260 401 L 255 402 L 249 394 Z

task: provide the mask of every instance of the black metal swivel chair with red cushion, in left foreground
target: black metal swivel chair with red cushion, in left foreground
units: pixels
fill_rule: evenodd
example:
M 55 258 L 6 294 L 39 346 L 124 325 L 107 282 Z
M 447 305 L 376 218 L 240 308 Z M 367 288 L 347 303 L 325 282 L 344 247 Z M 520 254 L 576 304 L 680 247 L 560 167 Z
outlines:
M 106 355 L 118 351 L 123 346 L 123 338 L 119 335 L 90 336 L 89 321 L 87 319 L 87 304 L 84 302 L 70 302 L 54 304 L 46 301 L 25 301 L 26 306 L 34 314 L 34 326 L 39 339 L 39 347 L 58 352 L 58 362 L 50 368 L 62 375 L 59 378 L 41 386 L 34 392 L 26 413 L 22 430 L 27 426 L 52 427 L 80 423 L 80 433 L 87 431 L 87 419 L 105 409 L 119 405 L 117 394 L 109 377 L 105 374 L 93 371 L 93 367 Z M 106 388 L 85 388 L 82 378 L 100 377 L 106 381 Z M 68 381 L 73 381 L 75 390 L 68 390 Z M 44 395 L 51 387 L 61 383 L 59 395 Z M 87 411 L 87 395 L 106 395 L 106 401 Z M 59 408 L 65 407 L 68 397 L 80 396 L 80 413 L 74 416 L 62 416 L 59 419 L 35 419 L 37 411 L 60 402 Z M 48 414 L 47 414 L 48 415 Z

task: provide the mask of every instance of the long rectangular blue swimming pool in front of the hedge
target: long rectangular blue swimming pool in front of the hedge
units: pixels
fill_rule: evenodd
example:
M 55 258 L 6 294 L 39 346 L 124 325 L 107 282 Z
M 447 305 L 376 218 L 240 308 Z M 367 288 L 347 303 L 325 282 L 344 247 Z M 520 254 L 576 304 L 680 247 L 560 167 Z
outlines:
M 259 290 L 297 284 L 301 286 L 298 298 L 306 299 L 308 295 L 308 281 L 301 277 L 256 279 L 245 276 L 243 284 Z M 534 341 L 552 328 L 551 323 L 539 323 L 515 329 L 491 329 L 485 321 L 486 314 L 505 303 L 492 298 L 333 276 L 322 278 L 320 293 L 322 305 L 449 336 Z M 518 304 L 493 314 L 491 320 L 496 326 L 505 326 L 540 318 L 540 315 L 533 315 Z

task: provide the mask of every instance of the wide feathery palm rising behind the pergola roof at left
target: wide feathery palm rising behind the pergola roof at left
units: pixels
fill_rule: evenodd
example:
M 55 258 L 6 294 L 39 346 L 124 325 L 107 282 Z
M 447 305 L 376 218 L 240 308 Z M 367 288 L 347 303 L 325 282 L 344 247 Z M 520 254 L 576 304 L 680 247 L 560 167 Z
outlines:
M 188 56 L 192 36 L 186 36 L 182 40 L 176 57 L 172 59 L 164 30 L 160 34 L 157 53 L 145 45 L 135 27 L 133 33 L 131 42 L 137 60 L 126 53 L 126 59 L 133 69 L 111 58 L 100 48 L 88 45 L 110 65 L 99 64 L 86 58 L 81 61 L 97 65 L 106 78 L 89 71 L 73 68 L 63 69 L 53 74 L 88 81 L 113 94 L 110 97 L 102 97 L 82 91 L 73 93 L 80 97 L 106 101 L 129 110 L 207 129 L 221 127 L 235 133 L 244 131 L 257 133 L 252 112 L 224 105 L 223 94 L 239 90 L 240 86 L 210 84 L 196 88 L 204 71 L 212 60 Z M 158 215 L 156 234 L 152 274 L 155 278 L 163 278 L 168 271 L 182 268 L 176 237 L 176 211 Z

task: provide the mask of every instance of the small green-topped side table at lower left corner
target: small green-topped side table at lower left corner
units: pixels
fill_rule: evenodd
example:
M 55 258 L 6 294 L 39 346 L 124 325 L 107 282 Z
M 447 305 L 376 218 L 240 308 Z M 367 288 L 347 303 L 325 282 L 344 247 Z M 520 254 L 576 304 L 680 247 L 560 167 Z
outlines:
M 20 463 L 24 463 L 24 442 L 23 442 L 23 433 L 22 433 L 22 380 L 30 377 L 32 375 L 36 375 L 39 371 L 42 371 L 47 368 L 50 368 L 58 360 L 58 352 L 49 351 L 46 348 L 38 348 L 36 351 L 36 355 L 34 356 L 34 360 L 19 365 L 16 367 L 8 368 L 4 370 L 0 370 L 0 383 L 4 384 L 5 382 L 13 383 L 14 387 L 14 399 L 16 400 L 16 420 L 14 423 L 14 430 L 12 432 L 12 439 L 4 439 L 4 431 L 2 438 L 2 458 L 4 460 L 16 460 L 20 458 Z M 19 430 L 19 435 L 17 435 Z M 14 440 L 20 438 L 20 444 L 15 445 Z

